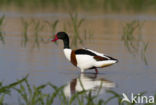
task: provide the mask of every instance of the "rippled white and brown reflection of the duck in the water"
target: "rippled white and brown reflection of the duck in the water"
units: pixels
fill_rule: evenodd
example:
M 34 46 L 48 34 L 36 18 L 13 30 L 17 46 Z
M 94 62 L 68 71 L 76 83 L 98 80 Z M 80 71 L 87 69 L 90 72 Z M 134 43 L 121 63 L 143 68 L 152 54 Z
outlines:
M 98 74 L 80 74 L 78 78 L 72 79 L 64 88 L 66 97 L 71 97 L 76 92 L 84 90 L 92 90 L 96 93 L 100 89 L 103 93 L 105 89 L 115 87 L 115 83 L 105 78 L 98 77 Z

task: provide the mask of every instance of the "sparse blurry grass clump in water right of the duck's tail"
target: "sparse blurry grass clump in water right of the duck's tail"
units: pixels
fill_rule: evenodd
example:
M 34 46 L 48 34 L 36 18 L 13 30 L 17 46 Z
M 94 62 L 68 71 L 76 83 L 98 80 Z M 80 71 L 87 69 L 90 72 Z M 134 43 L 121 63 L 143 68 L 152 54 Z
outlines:
M 128 51 L 133 54 L 141 55 L 141 59 L 144 61 L 146 65 L 148 65 L 146 58 L 146 51 L 148 48 L 148 42 L 145 42 L 143 39 L 143 35 L 141 34 L 141 28 L 143 24 L 139 21 L 132 21 L 127 23 L 123 27 L 123 34 L 121 36 L 121 40 L 124 42 L 124 45 L 128 49 Z

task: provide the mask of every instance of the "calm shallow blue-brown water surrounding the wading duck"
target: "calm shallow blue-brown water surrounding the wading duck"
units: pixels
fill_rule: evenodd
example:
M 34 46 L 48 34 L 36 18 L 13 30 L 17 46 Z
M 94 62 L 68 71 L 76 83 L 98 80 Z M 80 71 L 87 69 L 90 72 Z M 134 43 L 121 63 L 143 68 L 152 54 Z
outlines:
M 64 21 L 69 20 L 67 15 L 61 16 L 60 21 L 62 23 L 59 24 L 57 31 L 63 29 L 61 25 Z M 79 68 L 74 67 L 66 60 L 62 51 L 61 41 L 59 41 L 58 46 L 54 43 L 47 43 L 41 44 L 39 48 L 33 48 L 32 43 L 28 43 L 28 46 L 21 47 L 20 35 L 22 29 L 19 22 L 20 16 L 13 15 L 12 17 L 12 15 L 6 15 L 4 27 L 6 43 L 0 44 L 0 80 L 4 81 L 5 84 L 14 82 L 16 79 L 29 74 L 31 84 L 36 85 L 51 82 L 57 86 L 67 84 L 67 87 L 70 87 L 72 81 L 77 81 L 78 78 L 81 78 L 82 82 L 88 84 L 95 83 L 95 86 L 89 87 L 90 85 L 88 85 L 86 87 L 94 89 L 99 86 L 99 83 L 95 81 L 106 80 L 102 95 L 99 96 L 103 98 L 108 97 L 107 93 L 104 92 L 107 89 L 112 89 L 120 94 L 130 94 L 131 92 L 137 94 L 147 91 L 150 95 L 153 95 L 156 92 L 155 17 L 142 16 L 141 18 L 140 15 L 138 17 L 127 15 L 84 16 L 86 21 L 81 27 L 80 33 L 83 33 L 83 28 L 87 27 L 88 30 L 94 33 L 94 36 L 91 40 L 84 42 L 84 45 L 79 45 L 78 47 L 87 47 L 119 59 L 119 63 L 99 69 L 98 75 L 91 74 L 91 77 L 88 77 L 88 75 L 80 74 Z M 44 14 L 41 14 L 41 16 L 43 20 L 48 20 L 49 15 L 44 17 Z M 58 15 L 50 14 L 50 17 L 53 17 L 55 20 L 58 18 Z M 135 17 L 144 22 L 141 34 L 149 42 L 146 52 L 148 65 L 144 64 L 139 54 L 133 56 L 129 53 L 121 41 L 123 25 L 128 21 L 136 19 Z M 38 19 L 38 17 L 33 18 Z M 72 35 L 70 29 L 68 29 L 68 32 Z M 47 33 L 50 32 L 43 32 L 43 34 Z M 94 73 L 94 70 L 87 72 Z M 69 95 L 69 91 L 70 89 L 67 89 L 65 93 Z M 14 98 L 10 100 L 10 103 L 14 103 Z M 56 101 L 56 104 L 58 103 L 59 101 Z

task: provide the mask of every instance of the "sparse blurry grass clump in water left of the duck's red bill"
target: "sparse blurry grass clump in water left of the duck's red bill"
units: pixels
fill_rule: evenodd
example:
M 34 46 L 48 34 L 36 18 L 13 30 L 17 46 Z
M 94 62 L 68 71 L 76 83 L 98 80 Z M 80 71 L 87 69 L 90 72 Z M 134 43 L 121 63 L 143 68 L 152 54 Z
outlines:
M 32 48 L 39 48 L 40 43 L 47 44 L 49 43 L 49 39 L 54 37 L 56 34 L 56 27 L 58 24 L 58 20 L 54 22 L 48 22 L 48 21 L 40 21 L 40 20 L 26 20 L 24 18 L 21 18 L 21 23 L 23 26 L 23 32 L 21 34 L 21 45 L 26 47 L 28 42 L 33 43 Z M 48 26 L 47 26 L 48 24 Z M 45 27 L 49 27 L 51 34 L 48 36 L 47 35 L 42 35 L 41 32 L 45 29 Z M 31 32 L 29 32 L 31 29 Z M 44 34 L 44 33 L 43 33 Z

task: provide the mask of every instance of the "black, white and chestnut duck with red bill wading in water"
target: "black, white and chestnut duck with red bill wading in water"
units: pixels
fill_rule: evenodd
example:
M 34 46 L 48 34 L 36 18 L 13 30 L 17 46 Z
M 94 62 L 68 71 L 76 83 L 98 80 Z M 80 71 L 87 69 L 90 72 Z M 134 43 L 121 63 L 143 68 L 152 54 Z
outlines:
M 95 73 L 98 74 L 98 68 L 104 68 L 118 62 L 118 60 L 113 57 L 88 48 L 72 50 L 70 48 L 69 36 L 66 32 L 58 32 L 51 41 L 56 42 L 57 40 L 63 41 L 65 57 L 74 66 L 80 68 L 81 73 L 94 69 Z

